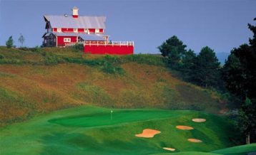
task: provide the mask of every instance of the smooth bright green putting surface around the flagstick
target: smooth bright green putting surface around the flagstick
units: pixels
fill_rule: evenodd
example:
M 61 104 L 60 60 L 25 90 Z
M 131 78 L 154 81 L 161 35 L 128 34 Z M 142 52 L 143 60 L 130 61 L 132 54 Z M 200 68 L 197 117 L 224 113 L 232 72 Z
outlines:
M 181 112 L 169 112 L 167 110 L 121 110 L 116 109 L 112 113 L 106 110 L 104 112 L 95 114 L 82 114 L 69 117 L 61 117 L 57 119 L 50 119 L 49 122 L 61 124 L 64 126 L 77 126 L 77 127 L 97 127 L 105 125 L 114 125 L 121 123 L 144 121 L 149 119 L 163 119 L 174 116 L 182 116 L 186 114 L 186 111 Z

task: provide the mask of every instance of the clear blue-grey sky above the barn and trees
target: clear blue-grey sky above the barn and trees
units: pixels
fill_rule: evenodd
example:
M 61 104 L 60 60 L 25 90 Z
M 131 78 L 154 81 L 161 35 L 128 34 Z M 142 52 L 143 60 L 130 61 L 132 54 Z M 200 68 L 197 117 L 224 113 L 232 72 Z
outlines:
M 112 41 L 134 41 L 135 53 L 159 53 L 167 38 L 177 36 L 199 53 L 209 46 L 216 53 L 248 43 L 255 25 L 256 0 L 0 0 L 0 46 L 9 36 L 20 46 L 41 46 L 44 15 L 106 16 L 105 33 Z

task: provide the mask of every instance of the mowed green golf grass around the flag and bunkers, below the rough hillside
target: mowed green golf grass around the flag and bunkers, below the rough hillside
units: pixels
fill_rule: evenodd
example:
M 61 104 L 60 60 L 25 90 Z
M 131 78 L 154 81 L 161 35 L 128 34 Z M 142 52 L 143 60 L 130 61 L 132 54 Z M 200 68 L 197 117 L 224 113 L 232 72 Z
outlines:
M 207 122 L 192 122 L 195 117 Z M 177 125 L 195 129 L 179 130 Z M 134 136 L 147 128 L 161 133 L 152 139 Z M 162 147 L 172 147 L 174 152 L 209 152 L 233 146 L 231 128 L 224 117 L 205 112 L 80 106 L 2 127 L 0 150 L 1 154 L 164 154 L 169 151 Z

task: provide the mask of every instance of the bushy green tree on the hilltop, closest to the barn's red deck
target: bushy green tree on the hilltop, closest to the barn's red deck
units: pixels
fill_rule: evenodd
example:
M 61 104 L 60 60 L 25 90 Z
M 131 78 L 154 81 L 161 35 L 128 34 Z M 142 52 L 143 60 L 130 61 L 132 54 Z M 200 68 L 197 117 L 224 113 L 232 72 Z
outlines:
M 180 63 L 180 60 L 182 60 L 186 47 L 187 46 L 184 45 L 177 36 L 172 36 L 171 38 L 168 38 L 167 41 L 164 41 L 158 49 L 164 57 L 169 59 L 171 65 L 177 65 Z

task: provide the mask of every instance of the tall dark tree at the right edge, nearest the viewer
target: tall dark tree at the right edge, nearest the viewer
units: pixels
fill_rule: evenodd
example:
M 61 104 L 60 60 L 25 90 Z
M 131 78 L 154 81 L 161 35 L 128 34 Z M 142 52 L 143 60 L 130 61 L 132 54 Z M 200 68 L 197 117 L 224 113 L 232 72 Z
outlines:
M 250 135 L 256 138 L 256 26 L 248 24 L 248 27 L 254 33 L 250 45 L 231 51 L 222 74 L 227 90 L 241 100 L 238 127 L 250 143 Z

